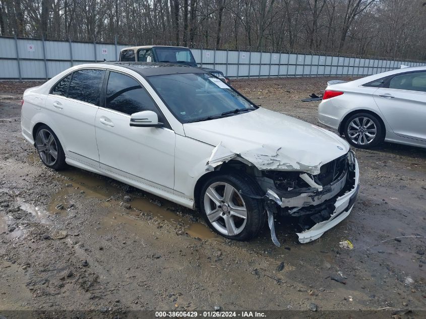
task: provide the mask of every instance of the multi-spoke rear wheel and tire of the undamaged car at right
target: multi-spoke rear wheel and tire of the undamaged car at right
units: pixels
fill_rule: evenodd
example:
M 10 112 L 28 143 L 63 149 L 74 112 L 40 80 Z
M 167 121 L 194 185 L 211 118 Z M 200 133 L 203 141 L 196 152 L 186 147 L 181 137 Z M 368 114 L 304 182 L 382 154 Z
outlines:
M 382 122 L 370 113 L 356 113 L 350 116 L 344 124 L 343 133 L 350 145 L 360 149 L 376 147 L 385 139 Z

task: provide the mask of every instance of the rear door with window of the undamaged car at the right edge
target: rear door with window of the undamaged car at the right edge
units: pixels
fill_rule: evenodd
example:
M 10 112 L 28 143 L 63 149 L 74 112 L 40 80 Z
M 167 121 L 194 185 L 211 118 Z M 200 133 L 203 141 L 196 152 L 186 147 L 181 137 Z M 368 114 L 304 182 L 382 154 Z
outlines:
M 396 75 L 373 96 L 396 135 L 426 141 L 426 72 Z

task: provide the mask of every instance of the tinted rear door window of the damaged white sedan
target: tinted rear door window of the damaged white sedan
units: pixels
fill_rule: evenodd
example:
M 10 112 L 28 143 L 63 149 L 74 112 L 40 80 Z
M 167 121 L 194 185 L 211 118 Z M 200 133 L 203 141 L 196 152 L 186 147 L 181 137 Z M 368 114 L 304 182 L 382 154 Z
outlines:
M 73 73 L 68 97 L 99 105 L 100 90 L 105 70 L 79 70 Z

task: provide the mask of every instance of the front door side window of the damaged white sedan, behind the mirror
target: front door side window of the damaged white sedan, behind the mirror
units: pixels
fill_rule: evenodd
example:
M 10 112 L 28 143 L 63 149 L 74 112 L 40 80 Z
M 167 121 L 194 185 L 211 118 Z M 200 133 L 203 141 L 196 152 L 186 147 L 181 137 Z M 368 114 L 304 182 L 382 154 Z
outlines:
M 146 110 L 154 111 L 158 120 L 164 122 L 148 92 L 135 79 L 121 73 L 109 73 L 105 107 L 129 115 Z

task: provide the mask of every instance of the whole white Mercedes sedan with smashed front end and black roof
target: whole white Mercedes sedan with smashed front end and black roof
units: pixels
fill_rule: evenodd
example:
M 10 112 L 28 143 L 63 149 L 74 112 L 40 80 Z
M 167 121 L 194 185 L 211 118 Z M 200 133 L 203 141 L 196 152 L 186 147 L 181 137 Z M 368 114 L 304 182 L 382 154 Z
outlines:
M 114 62 L 73 67 L 25 91 L 22 134 L 47 167 L 66 164 L 198 209 L 211 229 L 247 240 L 274 216 L 300 242 L 347 217 L 358 193 L 349 145 L 256 106 L 201 69 Z

